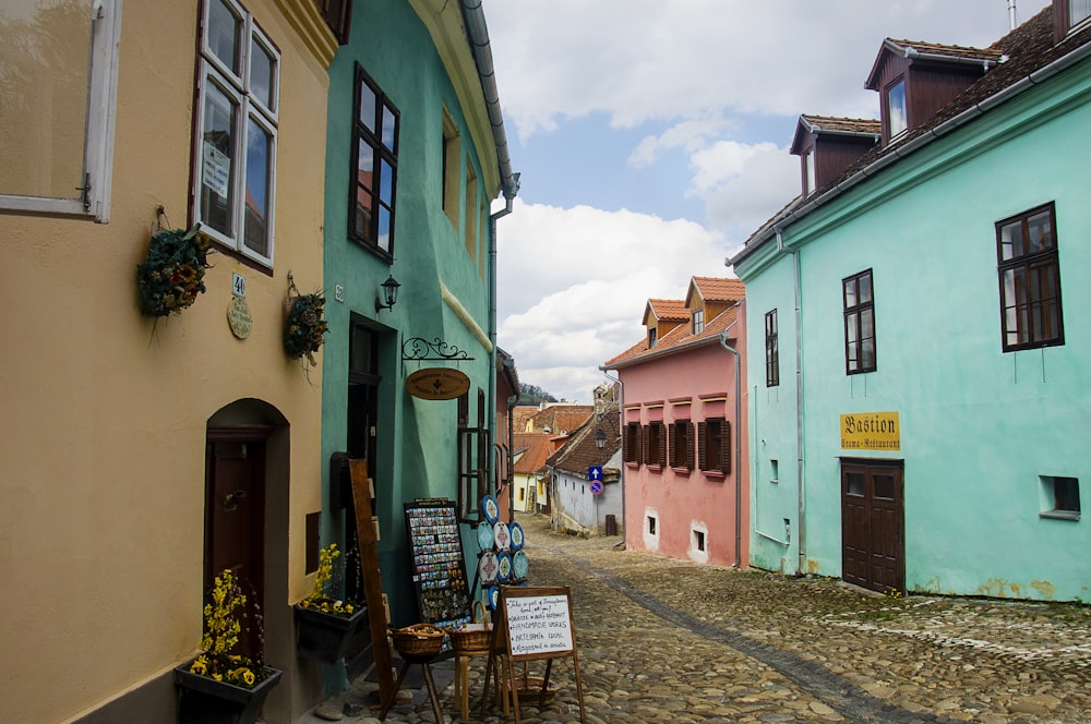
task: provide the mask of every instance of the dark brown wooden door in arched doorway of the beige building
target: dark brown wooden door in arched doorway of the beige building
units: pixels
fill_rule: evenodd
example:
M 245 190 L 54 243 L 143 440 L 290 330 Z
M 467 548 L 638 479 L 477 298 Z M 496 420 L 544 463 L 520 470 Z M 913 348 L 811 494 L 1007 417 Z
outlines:
M 265 439 L 208 431 L 205 463 L 205 590 L 230 568 L 248 600 L 238 653 L 261 651 L 255 617 L 264 600 Z M 245 436 L 242 436 L 245 437 Z

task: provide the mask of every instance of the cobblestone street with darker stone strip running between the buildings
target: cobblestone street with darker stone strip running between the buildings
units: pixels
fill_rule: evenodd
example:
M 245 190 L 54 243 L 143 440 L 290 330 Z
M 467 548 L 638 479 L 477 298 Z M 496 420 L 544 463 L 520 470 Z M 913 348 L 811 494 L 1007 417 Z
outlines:
M 572 588 L 586 722 L 1091 722 L 1091 608 L 932 596 L 892 599 L 826 579 L 735 571 L 555 535 L 520 518 L 530 582 Z M 483 663 L 473 660 L 470 721 Z M 533 662 L 531 671 L 541 662 Z M 459 721 L 451 664 L 445 722 Z M 578 722 L 571 660 L 527 724 Z M 359 681 L 327 702 L 370 702 Z M 387 722 L 433 722 L 423 690 Z M 373 711 L 346 715 L 373 724 Z M 321 720 L 309 717 L 305 724 Z

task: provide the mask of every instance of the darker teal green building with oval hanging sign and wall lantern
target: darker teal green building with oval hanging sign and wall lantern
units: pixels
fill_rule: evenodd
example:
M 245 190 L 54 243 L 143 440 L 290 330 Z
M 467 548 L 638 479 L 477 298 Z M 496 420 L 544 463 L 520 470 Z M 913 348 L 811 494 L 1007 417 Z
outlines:
M 313 130 L 327 134 L 325 215 L 315 224 L 329 322 L 328 466 L 307 545 L 351 546 L 340 461 L 365 458 L 383 591 L 393 625 L 404 626 L 422 619 L 404 505 L 448 498 L 461 521 L 476 521 L 495 486 L 495 221 L 511 210 L 517 174 L 480 2 L 369 0 L 346 13 L 327 128 Z M 501 194 L 507 205 L 494 213 Z M 432 375 L 423 397 L 407 384 L 421 371 Z M 350 562 L 349 593 L 359 593 L 357 569 Z

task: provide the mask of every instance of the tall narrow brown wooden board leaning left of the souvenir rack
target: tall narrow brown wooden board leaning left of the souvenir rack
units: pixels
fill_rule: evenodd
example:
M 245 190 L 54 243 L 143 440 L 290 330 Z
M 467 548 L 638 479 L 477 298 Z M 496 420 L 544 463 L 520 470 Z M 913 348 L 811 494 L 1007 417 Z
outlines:
M 356 534 L 360 542 L 360 567 L 363 572 L 363 594 L 368 603 L 368 623 L 371 626 L 371 645 L 375 652 L 375 676 L 379 679 L 379 700 L 393 701 L 394 659 L 386 638 L 386 608 L 383 606 L 383 579 L 379 572 L 379 546 L 375 545 L 375 524 L 372 521 L 371 485 L 368 483 L 368 461 L 349 460 L 352 479 L 352 503 L 356 507 Z

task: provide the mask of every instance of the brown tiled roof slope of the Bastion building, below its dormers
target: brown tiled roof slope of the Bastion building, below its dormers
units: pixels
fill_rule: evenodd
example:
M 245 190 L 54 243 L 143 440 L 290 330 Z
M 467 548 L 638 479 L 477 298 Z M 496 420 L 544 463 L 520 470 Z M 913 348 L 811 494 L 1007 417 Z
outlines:
M 813 196 L 818 197 L 827 193 L 839 193 L 837 191 L 837 186 L 839 184 L 856 176 L 862 170 L 886 156 L 895 153 L 899 153 L 899 155 L 909 155 L 912 149 L 907 149 L 907 146 L 911 142 L 925 134 L 932 133 L 937 126 L 958 117 L 960 113 L 963 113 L 974 107 L 979 107 L 979 110 L 981 110 L 984 114 L 987 114 L 995 106 L 991 105 L 986 108 L 981 108 L 979 104 L 992 98 L 1007 88 L 1016 86 L 1017 83 L 1030 76 L 1031 73 L 1034 73 L 1050 63 L 1062 59 L 1069 52 L 1087 45 L 1088 43 L 1091 43 L 1091 27 L 1087 27 L 1079 33 L 1068 36 L 1060 43 L 1054 44 L 1053 7 L 1046 5 L 1042 12 L 1038 13 L 988 47 L 987 50 L 990 52 L 998 52 L 1002 56 L 1006 56 L 1007 59 L 1004 62 L 993 67 L 981 79 L 972 83 L 962 93 L 956 96 L 951 102 L 936 111 L 931 119 L 901 135 L 897 142 L 887 144 L 886 146 L 876 146 L 875 148 L 868 150 L 854 164 L 849 166 L 840 177 L 828 183 L 823 189 L 818 189 L 817 193 Z M 958 48 L 958 46 L 937 47 Z M 981 49 L 973 50 L 980 51 Z M 1032 85 L 1033 84 L 1031 83 L 1027 84 L 1028 87 L 1031 87 Z M 895 160 L 892 161 L 892 165 L 896 166 L 897 162 L 898 161 Z M 792 218 L 793 220 L 795 218 L 801 218 L 802 215 L 810 212 L 808 205 L 801 204 L 801 201 L 802 200 L 800 197 L 793 198 L 787 206 L 784 206 L 784 208 L 763 224 L 762 227 L 746 240 L 743 245 L 743 250 L 731 258 L 731 264 L 738 264 L 744 260 L 747 255 L 750 255 L 750 253 L 762 245 L 759 242 L 772 239 L 774 227 L 789 218 Z M 796 216 L 796 212 L 802 213 Z

